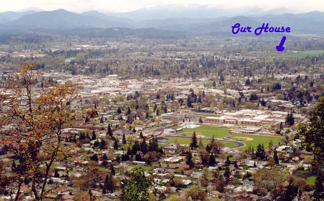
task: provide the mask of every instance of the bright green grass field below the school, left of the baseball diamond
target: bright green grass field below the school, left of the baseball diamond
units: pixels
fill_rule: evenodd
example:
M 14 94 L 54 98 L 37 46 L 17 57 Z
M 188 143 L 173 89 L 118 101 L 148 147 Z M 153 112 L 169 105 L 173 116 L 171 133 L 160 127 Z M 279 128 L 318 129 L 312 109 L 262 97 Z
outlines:
M 207 127 L 207 126 L 199 126 L 194 129 L 183 129 L 183 131 L 179 132 L 179 135 L 192 135 L 193 132 L 196 134 L 201 134 L 206 137 L 215 137 L 215 138 L 223 138 L 229 134 L 228 128 L 220 128 L 220 127 Z

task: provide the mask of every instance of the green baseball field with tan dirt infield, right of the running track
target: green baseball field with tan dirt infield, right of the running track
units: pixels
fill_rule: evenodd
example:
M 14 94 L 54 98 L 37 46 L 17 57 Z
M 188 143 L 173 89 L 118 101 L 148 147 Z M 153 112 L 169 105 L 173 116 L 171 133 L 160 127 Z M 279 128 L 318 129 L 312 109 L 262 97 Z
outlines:
M 235 138 L 235 137 L 242 137 L 242 138 L 240 138 L 241 142 L 244 142 L 247 145 L 247 146 L 239 148 L 239 149 L 248 149 L 249 144 L 251 144 L 251 147 L 254 147 L 254 150 L 256 150 L 256 148 L 259 144 L 263 143 L 264 147 L 266 148 L 266 147 L 268 147 L 270 140 L 272 140 L 273 144 L 276 144 L 281 139 L 281 137 L 235 134 L 232 136 L 232 140 L 237 140 L 237 138 Z M 244 138 L 252 138 L 253 140 L 249 141 L 248 139 L 244 139 Z

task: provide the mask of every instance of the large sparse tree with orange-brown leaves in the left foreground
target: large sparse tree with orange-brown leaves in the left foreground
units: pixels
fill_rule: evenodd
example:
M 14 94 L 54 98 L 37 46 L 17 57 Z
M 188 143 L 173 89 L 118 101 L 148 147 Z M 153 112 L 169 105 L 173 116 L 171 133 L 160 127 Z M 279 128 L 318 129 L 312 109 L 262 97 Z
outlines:
M 35 96 L 33 89 L 42 72 L 34 70 L 34 64 L 22 63 L 0 94 L 0 144 L 7 144 L 8 152 L 21 159 L 15 174 L 0 168 L 0 191 L 14 195 L 13 200 L 19 199 L 26 179 L 33 199 L 43 200 L 52 165 L 70 153 L 70 147 L 62 146 L 61 136 L 74 119 L 70 104 L 78 97 L 77 85 L 47 83 Z M 4 131 L 8 124 L 14 129 Z

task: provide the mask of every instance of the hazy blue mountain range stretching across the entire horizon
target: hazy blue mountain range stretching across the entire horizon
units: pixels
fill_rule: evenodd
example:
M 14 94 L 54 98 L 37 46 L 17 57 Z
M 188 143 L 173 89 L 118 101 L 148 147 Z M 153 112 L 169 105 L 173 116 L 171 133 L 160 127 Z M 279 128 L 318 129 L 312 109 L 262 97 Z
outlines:
M 100 36 L 105 35 L 107 31 L 110 35 L 115 35 L 112 34 L 114 29 L 111 27 L 118 27 L 119 30 L 128 30 L 124 31 L 124 34 L 144 34 L 145 31 L 161 33 L 162 30 L 166 35 L 178 35 L 180 32 L 211 34 L 230 33 L 231 26 L 235 23 L 252 27 L 269 23 L 271 26 L 290 26 L 293 33 L 322 33 L 324 12 L 296 13 L 288 8 L 264 11 L 257 7 L 225 9 L 209 5 L 175 4 L 143 8 L 128 13 L 74 13 L 63 9 L 43 11 L 37 8 L 0 13 L 0 32 L 11 29 L 37 29 L 73 33 L 76 31 L 71 31 L 72 29 L 98 29 L 87 30 L 86 33 L 101 33 L 98 35 Z

